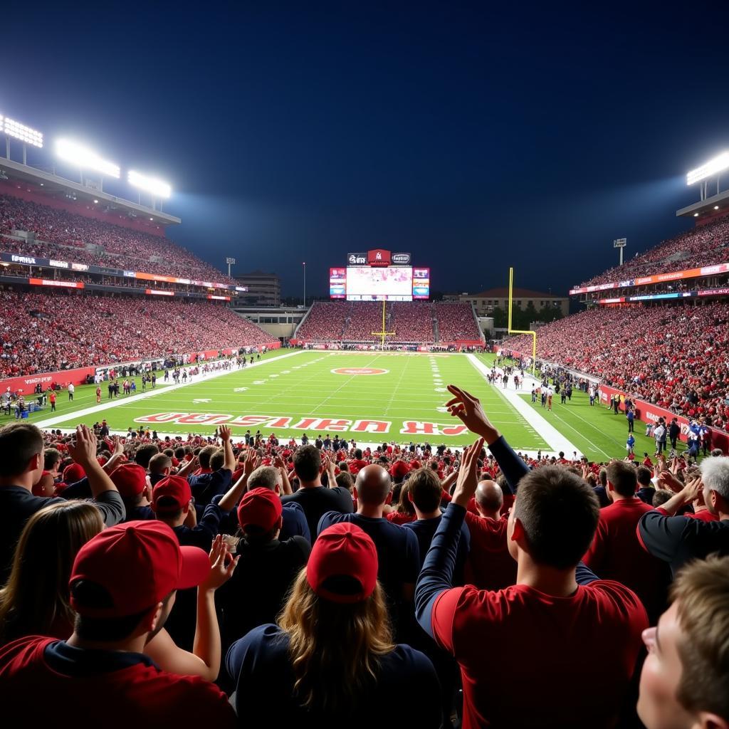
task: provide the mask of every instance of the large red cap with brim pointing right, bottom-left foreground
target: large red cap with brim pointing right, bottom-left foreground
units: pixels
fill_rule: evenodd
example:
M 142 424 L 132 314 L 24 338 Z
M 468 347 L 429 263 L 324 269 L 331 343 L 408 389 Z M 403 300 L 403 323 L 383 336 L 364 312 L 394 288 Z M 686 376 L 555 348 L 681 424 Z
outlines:
M 69 587 L 76 580 L 101 585 L 109 607 L 71 607 L 89 617 L 124 617 L 154 607 L 172 590 L 199 585 L 210 572 L 208 555 L 198 547 L 180 547 L 174 531 L 161 521 L 128 521 L 104 529 L 81 547 Z

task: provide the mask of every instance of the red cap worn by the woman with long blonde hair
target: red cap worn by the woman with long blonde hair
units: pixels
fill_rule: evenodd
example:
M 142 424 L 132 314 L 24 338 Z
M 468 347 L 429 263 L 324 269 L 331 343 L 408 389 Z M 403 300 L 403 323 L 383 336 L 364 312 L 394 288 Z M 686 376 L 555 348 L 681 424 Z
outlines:
M 354 603 L 366 600 L 377 584 L 375 542 L 359 526 L 343 521 L 319 534 L 306 565 L 306 580 L 325 600 Z M 324 587 L 330 577 L 351 577 L 361 587 L 355 593 L 335 593 Z

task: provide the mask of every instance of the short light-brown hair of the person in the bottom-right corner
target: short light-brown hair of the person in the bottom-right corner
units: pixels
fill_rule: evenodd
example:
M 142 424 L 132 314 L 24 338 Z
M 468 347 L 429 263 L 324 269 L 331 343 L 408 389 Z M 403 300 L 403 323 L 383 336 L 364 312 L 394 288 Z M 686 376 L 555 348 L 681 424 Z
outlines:
M 729 557 L 712 555 L 685 567 L 671 594 L 683 633 L 677 698 L 690 712 L 729 720 Z

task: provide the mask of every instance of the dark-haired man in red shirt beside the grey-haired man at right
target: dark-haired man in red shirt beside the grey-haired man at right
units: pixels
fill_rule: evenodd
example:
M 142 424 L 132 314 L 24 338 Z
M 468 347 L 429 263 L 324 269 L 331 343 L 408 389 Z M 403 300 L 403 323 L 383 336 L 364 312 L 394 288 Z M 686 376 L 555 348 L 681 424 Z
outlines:
M 602 580 L 615 580 L 631 588 L 653 625 L 666 608 L 671 575 L 638 541 L 638 522 L 651 507 L 635 495 L 637 485 L 636 469 L 631 464 L 612 461 L 608 465 L 607 495 L 612 504 L 600 510 L 595 538 L 583 560 Z

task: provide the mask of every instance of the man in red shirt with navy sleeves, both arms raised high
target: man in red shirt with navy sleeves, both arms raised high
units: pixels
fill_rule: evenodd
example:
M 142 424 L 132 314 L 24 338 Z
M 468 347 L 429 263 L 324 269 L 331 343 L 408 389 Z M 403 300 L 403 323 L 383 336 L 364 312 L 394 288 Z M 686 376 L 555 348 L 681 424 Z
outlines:
M 469 448 L 416 585 L 416 615 L 461 668 L 464 729 L 613 727 L 647 628 L 645 609 L 624 585 L 580 563 L 599 505 L 580 477 L 561 467 L 524 475 L 507 539 L 518 564 L 505 590 L 453 588 L 459 531 L 477 486 L 484 440 L 503 438 L 476 397 L 455 386 L 447 406 L 481 437 Z M 493 452 L 493 451 L 492 451 Z M 512 472 L 504 448 L 495 453 Z

